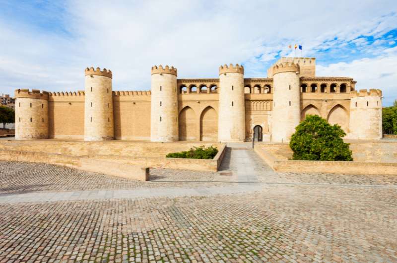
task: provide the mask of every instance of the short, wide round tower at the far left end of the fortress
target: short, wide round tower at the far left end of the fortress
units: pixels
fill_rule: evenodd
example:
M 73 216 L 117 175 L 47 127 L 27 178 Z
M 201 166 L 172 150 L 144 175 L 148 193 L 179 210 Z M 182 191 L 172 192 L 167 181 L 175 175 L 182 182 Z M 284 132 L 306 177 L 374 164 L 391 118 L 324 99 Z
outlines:
M 48 139 L 48 93 L 15 90 L 15 139 Z

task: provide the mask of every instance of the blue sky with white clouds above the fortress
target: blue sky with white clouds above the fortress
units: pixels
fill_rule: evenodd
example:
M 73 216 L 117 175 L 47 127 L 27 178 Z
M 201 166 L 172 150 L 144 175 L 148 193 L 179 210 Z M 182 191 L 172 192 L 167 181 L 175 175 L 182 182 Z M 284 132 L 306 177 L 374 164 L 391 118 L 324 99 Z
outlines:
M 86 66 L 110 68 L 114 90 L 147 90 L 150 67 L 217 77 L 221 64 L 265 77 L 288 45 L 315 57 L 318 76 L 397 99 L 397 4 L 349 1 L 0 0 L 0 90 L 84 89 Z M 300 52 L 297 53 L 300 56 Z

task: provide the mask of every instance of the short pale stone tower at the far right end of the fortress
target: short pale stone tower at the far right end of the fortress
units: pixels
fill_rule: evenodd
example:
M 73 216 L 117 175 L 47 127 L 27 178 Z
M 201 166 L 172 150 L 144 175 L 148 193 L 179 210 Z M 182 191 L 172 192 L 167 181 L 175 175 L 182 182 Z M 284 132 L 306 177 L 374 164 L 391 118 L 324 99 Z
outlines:
M 366 89 L 350 93 L 350 123 L 352 139 L 382 138 L 382 91 Z

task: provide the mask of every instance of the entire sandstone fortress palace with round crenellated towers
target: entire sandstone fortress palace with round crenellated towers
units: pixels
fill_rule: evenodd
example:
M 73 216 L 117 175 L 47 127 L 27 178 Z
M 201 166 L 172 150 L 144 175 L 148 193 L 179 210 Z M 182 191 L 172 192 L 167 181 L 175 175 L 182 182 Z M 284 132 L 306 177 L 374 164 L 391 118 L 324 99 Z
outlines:
M 288 142 L 308 114 L 338 124 L 347 138 L 382 137 L 382 92 L 355 90 L 349 77 L 316 76 L 314 58 L 281 58 L 266 78 L 219 67 L 219 78 L 177 78 L 151 68 L 150 91 L 114 91 L 112 71 L 85 69 L 85 89 L 15 91 L 16 139 Z

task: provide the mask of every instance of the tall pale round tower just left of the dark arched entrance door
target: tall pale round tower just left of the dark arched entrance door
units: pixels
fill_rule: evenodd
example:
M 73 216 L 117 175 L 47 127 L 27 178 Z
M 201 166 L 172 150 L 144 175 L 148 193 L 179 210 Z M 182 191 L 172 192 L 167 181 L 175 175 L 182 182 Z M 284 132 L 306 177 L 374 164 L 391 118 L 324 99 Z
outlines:
M 218 140 L 245 141 L 244 67 L 219 67 Z

